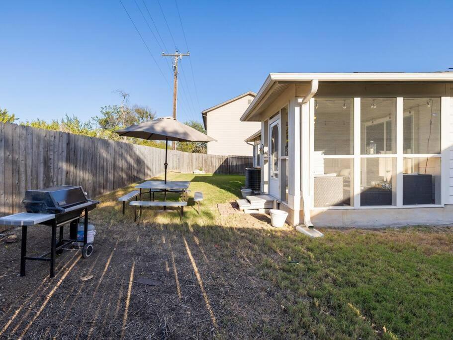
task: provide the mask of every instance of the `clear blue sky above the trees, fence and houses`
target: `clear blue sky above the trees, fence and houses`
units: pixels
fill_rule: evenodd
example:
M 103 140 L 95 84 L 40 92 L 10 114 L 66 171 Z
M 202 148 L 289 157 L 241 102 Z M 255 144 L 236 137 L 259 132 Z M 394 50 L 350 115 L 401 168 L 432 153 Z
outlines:
M 173 78 L 136 3 L 122 0 L 159 67 Z M 144 0 L 168 52 L 175 44 L 157 0 Z M 160 0 L 185 52 L 175 0 Z M 182 60 L 178 118 L 243 92 L 270 72 L 439 71 L 453 67 L 453 1 L 182 1 L 190 50 Z M 156 34 L 156 32 L 155 32 Z M 157 35 L 157 34 L 156 34 Z M 21 120 L 84 120 L 119 104 L 172 113 L 172 89 L 119 0 L 1 1 L 0 108 Z M 197 99 L 198 97 L 198 99 Z

